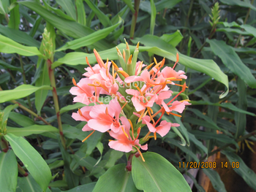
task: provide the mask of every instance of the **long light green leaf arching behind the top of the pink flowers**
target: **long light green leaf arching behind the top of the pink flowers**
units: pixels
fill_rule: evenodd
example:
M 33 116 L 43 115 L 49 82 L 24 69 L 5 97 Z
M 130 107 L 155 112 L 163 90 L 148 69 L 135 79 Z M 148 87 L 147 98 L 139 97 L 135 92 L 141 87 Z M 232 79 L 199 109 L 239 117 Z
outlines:
M 152 35 L 146 35 L 140 39 L 138 39 L 140 42 L 142 42 L 146 47 L 140 46 L 139 50 L 140 52 L 148 51 L 150 53 L 154 53 L 156 55 L 160 55 L 162 57 L 168 58 L 171 61 L 176 61 L 176 53 L 178 50 L 176 50 L 175 47 L 168 44 L 164 40 L 160 39 L 159 37 L 152 36 Z M 119 50 L 125 50 L 126 45 L 125 44 L 119 44 L 118 46 Z M 129 46 L 131 53 L 134 52 L 135 46 Z M 99 55 L 102 59 L 110 59 L 115 60 L 118 59 L 118 54 L 116 53 L 116 47 L 111 48 L 109 50 L 104 50 L 99 52 Z M 78 64 L 86 64 L 85 57 L 88 57 L 89 62 L 91 64 L 97 63 L 97 60 L 93 53 L 67 53 L 63 58 L 59 58 L 58 61 L 54 62 L 52 64 L 52 68 L 59 66 L 61 64 L 68 64 L 71 66 L 75 66 Z M 183 64 L 184 66 L 187 66 L 191 69 L 195 69 L 198 72 L 203 72 L 205 74 L 208 74 L 210 77 L 214 78 L 214 80 L 217 80 L 219 82 L 222 82 L 226 87 L 227 91 L 225 93 L 222 93 L 220 98 L 223 98 L 228 93 L 228 79 L 227 75 L 224 74 L 220 69 L 219 66 L 212 60 L 208 59 L 197 59 L 197 58 L 190 58 L 187 55 L 179 54 L 179 63 Z

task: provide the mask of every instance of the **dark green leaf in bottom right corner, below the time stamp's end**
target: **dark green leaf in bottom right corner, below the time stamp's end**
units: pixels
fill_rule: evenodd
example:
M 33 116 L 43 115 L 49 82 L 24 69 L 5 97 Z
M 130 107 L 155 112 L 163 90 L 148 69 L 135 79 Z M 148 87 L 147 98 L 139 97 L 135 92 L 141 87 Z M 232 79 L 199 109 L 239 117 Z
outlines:
M 236 155 L 235 153 L 228 151 L 228 150 L 222 150 L 222 153 L 227 156 L 227 159 L 232 162 L 238 162 L 239 168 L 233 169 L 237 174 L 239 174 L 244 181 L 253 189 L 256 191 L 256 174 L 252 171 L 252 169 L 249 169 L 248 166 L 244 163 L 244 161 Z

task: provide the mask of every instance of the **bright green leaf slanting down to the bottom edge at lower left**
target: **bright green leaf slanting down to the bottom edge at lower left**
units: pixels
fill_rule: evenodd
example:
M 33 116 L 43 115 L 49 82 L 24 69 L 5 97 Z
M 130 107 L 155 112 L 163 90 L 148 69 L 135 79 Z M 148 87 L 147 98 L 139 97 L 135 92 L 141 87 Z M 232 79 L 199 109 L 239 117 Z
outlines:
M 51 173 L 42 156 L 23 137 L 16 137 L 9 133 L 4 137 L 10 142 L 15 155 L 20 158 L 26 169 L 34 177 L 34 180 L 37 181 L 43 191 L 46 191 L 51 180 Z

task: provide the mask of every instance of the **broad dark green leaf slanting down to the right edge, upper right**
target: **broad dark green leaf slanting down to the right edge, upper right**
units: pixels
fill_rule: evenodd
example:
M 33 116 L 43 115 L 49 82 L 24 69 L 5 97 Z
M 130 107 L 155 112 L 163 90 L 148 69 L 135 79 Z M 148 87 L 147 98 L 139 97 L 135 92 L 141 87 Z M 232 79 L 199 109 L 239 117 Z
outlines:
M 223 41 L 217 41 L 216 39 L 206 39 L 211 45 L 215 55 L 218 55 L 222 59 L 223 64 L 227 66 L 234 74 L 238 75 L 247 85 L 251 88 L 256 88 L 256 80 L 250 72 L 249 68 L 243 64 L 236 52 Z

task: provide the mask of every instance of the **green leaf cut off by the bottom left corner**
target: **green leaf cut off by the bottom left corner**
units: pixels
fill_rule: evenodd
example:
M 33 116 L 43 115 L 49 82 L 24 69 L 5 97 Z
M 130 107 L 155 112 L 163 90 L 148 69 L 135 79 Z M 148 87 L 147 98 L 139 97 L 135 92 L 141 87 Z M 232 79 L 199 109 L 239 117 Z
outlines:
M 1 191 L 16 191 L 18 164 L 12 150 L 0 153 L 0 186 Z

